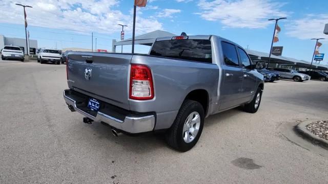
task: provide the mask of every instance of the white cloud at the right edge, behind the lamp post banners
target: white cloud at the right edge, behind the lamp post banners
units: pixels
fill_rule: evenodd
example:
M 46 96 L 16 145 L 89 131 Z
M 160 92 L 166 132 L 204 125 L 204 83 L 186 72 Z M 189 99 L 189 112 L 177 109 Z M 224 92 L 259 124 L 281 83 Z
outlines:
M 299 39 L 326 38 L 324 25 L 328 24 L 328 14 L 308 14 L 304 18 L 290 20 L 286 26 L 287 35 Z

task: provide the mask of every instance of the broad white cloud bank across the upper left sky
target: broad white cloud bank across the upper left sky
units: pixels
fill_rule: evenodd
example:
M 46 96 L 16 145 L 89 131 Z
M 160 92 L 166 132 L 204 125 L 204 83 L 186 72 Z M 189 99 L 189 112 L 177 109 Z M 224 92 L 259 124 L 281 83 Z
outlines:
M 33 5 L 26 10 L 29 26 L 111 34 L 120 30 L 117 24 L 125 24 L 129 26 L 125 30 L 132 32 L 133 14 L 117 10 L 118 0 L 45 0 L 42 3 L 22 0 L 20 3 Z M 22 7 L 0 1 L 0 12 L 1 23 L 24 24 Z M 141 12 L 137 15 L 136 25 L 137 34 L 162 29 L 156 17 L 146 19 Z

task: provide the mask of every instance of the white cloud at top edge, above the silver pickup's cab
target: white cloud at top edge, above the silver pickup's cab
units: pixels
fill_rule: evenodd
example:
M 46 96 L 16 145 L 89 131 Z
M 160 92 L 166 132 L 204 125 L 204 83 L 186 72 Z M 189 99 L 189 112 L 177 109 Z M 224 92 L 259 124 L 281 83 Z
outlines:
M 198 7 L 203 11 L 196 14 L 231 28 L 265 28 L 272 23 L 268 18 L 287 15 L 279 10 L 283 5 L 270 0 L 200 0 Z

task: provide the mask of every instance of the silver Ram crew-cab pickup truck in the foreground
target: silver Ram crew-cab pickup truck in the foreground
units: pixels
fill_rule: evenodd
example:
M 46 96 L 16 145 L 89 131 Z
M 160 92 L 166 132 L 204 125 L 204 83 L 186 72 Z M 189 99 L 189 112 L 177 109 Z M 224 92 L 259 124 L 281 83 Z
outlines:
M 258 110 L 264 81 L 255 67 L 240 45 L 214 35 L 157 38 L 148 55 L 71 52 L 64 99 L 114 135 L 163 131 L 188 151 L 211 114 Z

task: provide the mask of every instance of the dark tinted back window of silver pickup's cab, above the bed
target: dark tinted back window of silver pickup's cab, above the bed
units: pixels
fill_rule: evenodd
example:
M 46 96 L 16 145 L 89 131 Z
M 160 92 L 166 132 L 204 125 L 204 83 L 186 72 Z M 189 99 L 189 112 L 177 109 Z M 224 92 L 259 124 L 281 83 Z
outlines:
M 198 39 L 156 41 L 150 55 L 212 63 L 211 41 Z

